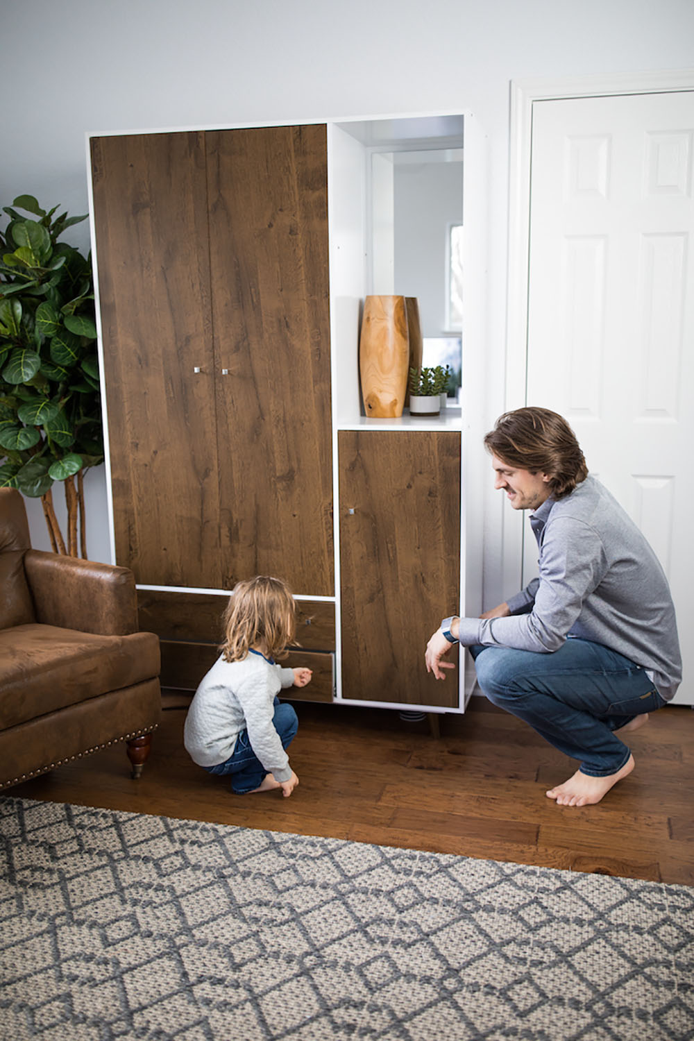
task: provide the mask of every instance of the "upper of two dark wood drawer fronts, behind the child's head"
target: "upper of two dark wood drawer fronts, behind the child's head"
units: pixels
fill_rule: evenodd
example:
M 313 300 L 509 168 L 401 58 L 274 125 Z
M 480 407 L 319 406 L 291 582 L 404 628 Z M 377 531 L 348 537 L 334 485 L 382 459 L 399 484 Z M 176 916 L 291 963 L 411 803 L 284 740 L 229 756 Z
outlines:
M 216 646 L 224 635 L 222 615 L 227 601 L 227 593 L 138 589 L 139 628 L 162 640 L 197 640 Z M 333 651 L 335 605 L 320 600 L 297 601 L 297 639 L 307 651 Z

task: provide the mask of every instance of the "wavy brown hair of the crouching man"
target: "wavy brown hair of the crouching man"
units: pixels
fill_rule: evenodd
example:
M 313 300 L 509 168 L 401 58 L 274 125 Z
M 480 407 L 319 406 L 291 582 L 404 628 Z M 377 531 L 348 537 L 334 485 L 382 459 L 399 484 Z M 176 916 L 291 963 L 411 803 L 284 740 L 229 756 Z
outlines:
M 517 408 L 499 415 L 485 447 L 508 466 L 549 475 L 552 499 L 570 494 L 588 477 L 588 466 L 566 420 L 548 408 Z

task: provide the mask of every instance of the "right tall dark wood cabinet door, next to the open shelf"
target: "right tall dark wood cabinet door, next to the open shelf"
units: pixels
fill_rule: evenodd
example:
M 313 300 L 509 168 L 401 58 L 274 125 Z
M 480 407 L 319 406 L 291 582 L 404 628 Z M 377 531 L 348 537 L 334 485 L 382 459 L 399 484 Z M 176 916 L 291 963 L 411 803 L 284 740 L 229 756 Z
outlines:
M 269 574 L 331 596 L 327 128 L 206 146 L 223 587 Z

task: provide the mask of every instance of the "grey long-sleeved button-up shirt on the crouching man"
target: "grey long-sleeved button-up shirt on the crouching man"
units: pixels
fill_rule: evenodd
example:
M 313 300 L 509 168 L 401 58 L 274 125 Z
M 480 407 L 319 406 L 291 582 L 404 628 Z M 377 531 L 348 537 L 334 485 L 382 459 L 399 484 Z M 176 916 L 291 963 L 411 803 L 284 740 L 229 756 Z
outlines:
M 531 514 L 540 577 L 509 601 L 511 617 L 461 618 L 466 646 L 557 651 L 568 636 L 641 665 L 670 701 L 682 657 L 670 589 L 650 545 L 594 477 Z

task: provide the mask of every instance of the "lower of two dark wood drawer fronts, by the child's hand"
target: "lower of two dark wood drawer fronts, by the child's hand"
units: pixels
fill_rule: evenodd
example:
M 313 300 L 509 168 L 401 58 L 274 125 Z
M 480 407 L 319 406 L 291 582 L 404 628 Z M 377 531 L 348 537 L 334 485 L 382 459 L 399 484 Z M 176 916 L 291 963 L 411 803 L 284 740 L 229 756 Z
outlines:
M 172 690 L 189 690 L 192 693 L 219 656 L 220 652 L 213 644 L 162 640 L 161 686 Z M 306 687 L 287 688 L 281 691 L 280 696 L 300 702 L 332 702 L 333 662 L 332 654 L 290 651 L 280 664 L 286 668 L 310 668 L 313 676 Z

